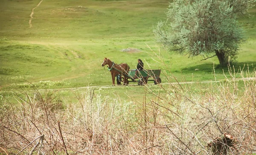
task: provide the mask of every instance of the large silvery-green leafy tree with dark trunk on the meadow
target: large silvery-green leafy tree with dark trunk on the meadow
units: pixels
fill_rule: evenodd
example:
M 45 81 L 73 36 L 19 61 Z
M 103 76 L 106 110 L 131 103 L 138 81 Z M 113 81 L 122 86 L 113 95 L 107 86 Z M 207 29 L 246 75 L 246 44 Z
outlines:
M 209 59 L 220 65 L 236 59 L 244 42 L 239 16 L 247 16 L 255 0 L 174 0 L 167 20 L 154 28 L 157 41 L 170 51 Z

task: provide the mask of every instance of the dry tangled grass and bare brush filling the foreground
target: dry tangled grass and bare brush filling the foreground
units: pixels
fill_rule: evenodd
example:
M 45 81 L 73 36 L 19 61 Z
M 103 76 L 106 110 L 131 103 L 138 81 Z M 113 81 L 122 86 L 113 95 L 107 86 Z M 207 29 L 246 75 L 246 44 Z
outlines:
M 49 90 L 23 91 L 16 103 L 1 104 L 0 154 L 220 155 L 208 144 L 228 133 L 233 145 L 225 146 L 223 155 L 253 155 L 256 72 L 245 75 L 251 80 L 242 80 L 243 87 L 233 78 L 197 93 L 195 84 L 172 85 L 176 79 L 168 77 L 168 88 L 145 85 L 143 100 L 124 105 L 90 89 L 76 94 L 72 104 Z

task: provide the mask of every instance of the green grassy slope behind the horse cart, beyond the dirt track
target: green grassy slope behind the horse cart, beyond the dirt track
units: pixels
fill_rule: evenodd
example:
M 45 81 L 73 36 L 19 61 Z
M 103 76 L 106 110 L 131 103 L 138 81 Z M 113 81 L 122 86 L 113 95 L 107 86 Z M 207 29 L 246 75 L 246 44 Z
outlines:
M 110 73 L 101 67 L 104 57 L 128 63 L 131 68 L 140 58 L 145 68 L 160 68 L 180 81 L 215 79 L 217 58 L 201 61 L 201 57 L 176 55 L 154 41 L 152 28 L 165 20 L 169 0 L 43 0 L 36 7 L 39 2 L 0 2 L 2 90 L 9 89 L 9 85 L 22 87 L 20 84 L 26 82 L 49 88 L 111 85 Z M 33 18 L 29 16 L 32 8 Z M 255 10 L 250 9 L 250 13 L 255 15 Z M 241 45 L 236 70 L 244 65 L 249 65 L 250 70 L 255 68 L 255 19 L 240 19 L 248 40 Z M 125 48 L 140 51 L 122 52 Z M 224 72 L 228 72 L 227 68 Z M 215 68 L 215 75 L 223 80 L 222 68 Z

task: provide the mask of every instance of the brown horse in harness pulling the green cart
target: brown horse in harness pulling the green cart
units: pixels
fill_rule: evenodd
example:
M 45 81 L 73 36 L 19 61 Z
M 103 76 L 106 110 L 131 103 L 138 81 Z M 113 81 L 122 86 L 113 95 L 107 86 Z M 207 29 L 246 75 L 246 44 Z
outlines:
M 112 86 L 115 85 L 115 77 L 118 74 L 122 74 L 124 76 L 124 85 L 126 84 L 126 80 L 127 80 L 127 76 L 128 75 L 128 71 L 130 69 L 129 65 L 122 63 L 122 64 L 116 64 L 114 62 L 112 62 L 110 59 L 105 58 L 102 62 L 102 67 L 108 65 L 111 76 L 112 76 Z

